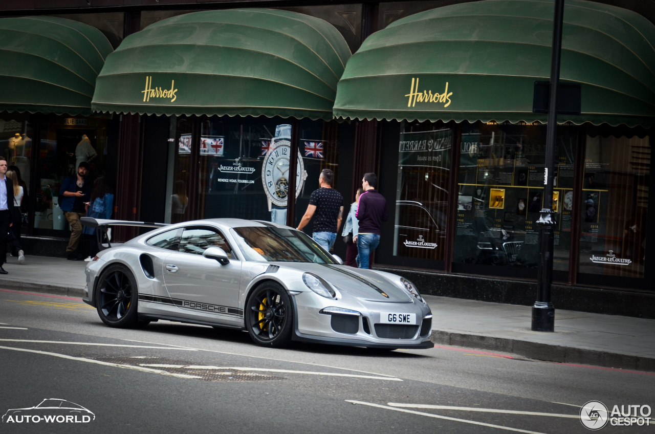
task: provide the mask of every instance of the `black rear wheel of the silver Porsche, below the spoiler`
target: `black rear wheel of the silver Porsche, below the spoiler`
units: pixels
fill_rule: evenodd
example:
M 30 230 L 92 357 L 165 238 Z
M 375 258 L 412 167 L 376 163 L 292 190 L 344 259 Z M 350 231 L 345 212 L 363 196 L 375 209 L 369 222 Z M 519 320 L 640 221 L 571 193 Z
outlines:
M 96 306 L 102 322 L 110 327 L 132 328 L 147 325 L 137 315 L 138 290 L 136 279 L 121 264 L 113 264 L 100 275 L 96 288 Z

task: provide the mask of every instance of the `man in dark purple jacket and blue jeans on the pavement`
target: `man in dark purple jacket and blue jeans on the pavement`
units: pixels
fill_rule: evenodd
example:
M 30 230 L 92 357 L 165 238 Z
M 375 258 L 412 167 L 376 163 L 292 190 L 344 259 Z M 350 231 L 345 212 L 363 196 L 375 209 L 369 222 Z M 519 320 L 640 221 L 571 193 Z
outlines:
M 357 262 L 360 268 L 370 268 L 369 256 L 380 244 L 382 222 L 386 222 L 386 199 L 376 190 L 375 173 L 364 174 L 362 187 L 364 193 L 360 196 L 355 214 L 360 222 L 357 235 Z

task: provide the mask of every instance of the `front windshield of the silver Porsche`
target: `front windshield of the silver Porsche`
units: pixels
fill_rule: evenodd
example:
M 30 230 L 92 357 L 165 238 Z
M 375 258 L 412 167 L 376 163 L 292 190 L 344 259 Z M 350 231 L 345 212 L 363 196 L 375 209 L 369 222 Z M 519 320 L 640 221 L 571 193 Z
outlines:
M 231 231 L 248 261 L 337 264 L 316 241 L 295 229 L 248 226 L 235 227 Z

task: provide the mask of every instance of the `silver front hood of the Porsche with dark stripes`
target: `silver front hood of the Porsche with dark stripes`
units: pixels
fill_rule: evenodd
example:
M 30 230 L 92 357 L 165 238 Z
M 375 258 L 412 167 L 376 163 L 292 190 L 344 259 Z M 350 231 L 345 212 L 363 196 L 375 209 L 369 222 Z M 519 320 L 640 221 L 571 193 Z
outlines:
M 331 264 L 290 264 L 280 266 L 308 272 L 325 279 L 338 290 L 375 302 L 411 302 L 407 292 L 386 277 L 370 269 L 359 269 Z

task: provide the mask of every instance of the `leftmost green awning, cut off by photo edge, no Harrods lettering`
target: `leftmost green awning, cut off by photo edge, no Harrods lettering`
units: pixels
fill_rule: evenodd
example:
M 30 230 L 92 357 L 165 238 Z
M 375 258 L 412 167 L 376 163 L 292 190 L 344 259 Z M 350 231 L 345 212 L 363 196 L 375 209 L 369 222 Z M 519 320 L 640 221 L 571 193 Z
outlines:
M 0 18 L 0 111 L 89 115 L 110 52 L 105 35 L 80 22 Z

